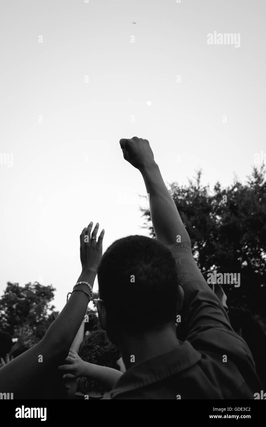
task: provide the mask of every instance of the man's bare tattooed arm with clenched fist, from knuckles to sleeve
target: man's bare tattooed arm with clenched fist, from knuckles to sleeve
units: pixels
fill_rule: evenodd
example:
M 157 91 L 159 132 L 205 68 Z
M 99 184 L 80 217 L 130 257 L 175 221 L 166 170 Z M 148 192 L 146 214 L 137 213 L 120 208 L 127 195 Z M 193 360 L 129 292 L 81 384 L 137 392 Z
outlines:
M 197 279 L 203 281 L 209 290 L 193 258 L 190 237 L 154 161 L 149 141 L 137 137 L 122 139 L 120 146 L 124 158 L 140 170 L 143 176 L 149 193 L 149 207 L 156 238 L 172 250 L 180 284 L 184 285 L 187 281 Z M 180 236 L 180 239 L 177 239 L 177 236 Z M 177 240 L 180 243 L 177 243 Z

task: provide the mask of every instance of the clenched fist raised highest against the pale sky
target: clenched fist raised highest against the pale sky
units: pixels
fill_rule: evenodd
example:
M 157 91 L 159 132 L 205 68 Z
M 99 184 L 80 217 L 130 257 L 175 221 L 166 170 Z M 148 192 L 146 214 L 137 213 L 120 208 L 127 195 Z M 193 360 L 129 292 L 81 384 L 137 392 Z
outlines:
M 149 141 L 134 136 L 131 139 L 120 139 L 124 159 L 137 169 L 148 167 L 154 163 L 154 156 Z

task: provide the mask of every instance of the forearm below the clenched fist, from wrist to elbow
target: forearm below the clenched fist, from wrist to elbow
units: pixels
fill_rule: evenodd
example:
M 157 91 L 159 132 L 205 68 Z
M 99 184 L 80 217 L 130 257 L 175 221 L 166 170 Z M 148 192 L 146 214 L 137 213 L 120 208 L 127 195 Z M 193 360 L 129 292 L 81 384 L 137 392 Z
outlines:
M 181 242 L 190 244 L 190 237 L 169 191 L 167 190 L 158 164 L 153 162 L 140 169 L 147 193 L 149 193 L 149 207 L 152 225 L 157 240 L 171 247 L 176 244 L 177 236 Z

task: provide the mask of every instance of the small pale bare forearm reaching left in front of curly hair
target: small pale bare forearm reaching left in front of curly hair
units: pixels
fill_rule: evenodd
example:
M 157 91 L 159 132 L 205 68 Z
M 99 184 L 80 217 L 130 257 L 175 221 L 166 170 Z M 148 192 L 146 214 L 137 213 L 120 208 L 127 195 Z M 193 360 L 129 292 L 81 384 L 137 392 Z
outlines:
M 83 362 L 82 375 L 91 380 L 98 381 L 106 387 L 106 390 L 111 390 L 117 380 L 123 375 L 117 369 L 108 368 L 107 366 L 94 365 L 93 363 Z

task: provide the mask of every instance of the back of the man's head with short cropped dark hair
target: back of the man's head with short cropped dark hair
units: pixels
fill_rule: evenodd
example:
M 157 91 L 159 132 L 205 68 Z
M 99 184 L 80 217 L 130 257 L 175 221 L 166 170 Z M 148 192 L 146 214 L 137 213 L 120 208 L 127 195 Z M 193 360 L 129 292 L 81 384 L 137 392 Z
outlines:
M 155 239 L 129 236 L 114 242 L 98 268 L 99 320 L 109 339 L 147 334 L 175 324 L 183 292 L 171 251 Z

